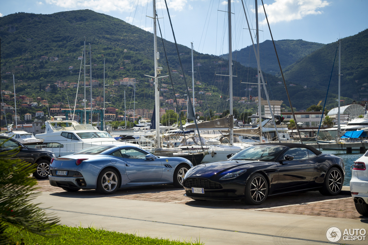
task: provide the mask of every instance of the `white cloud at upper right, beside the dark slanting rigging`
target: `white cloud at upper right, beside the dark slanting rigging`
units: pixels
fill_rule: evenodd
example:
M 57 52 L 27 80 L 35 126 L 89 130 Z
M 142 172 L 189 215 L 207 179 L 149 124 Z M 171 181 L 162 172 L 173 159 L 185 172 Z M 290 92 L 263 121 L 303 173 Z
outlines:
M 275 0 L 272 4 L 265 4 L 265 9 L 270 23 L 293 21 L 302 19 L 307 15 L 322 14 L 319 8 L 328 6 L 325 0 Z M 263 13 L 263 7 L 259 6 L 259 12 Z M 266 19 L 263 24 L 267 24 Z

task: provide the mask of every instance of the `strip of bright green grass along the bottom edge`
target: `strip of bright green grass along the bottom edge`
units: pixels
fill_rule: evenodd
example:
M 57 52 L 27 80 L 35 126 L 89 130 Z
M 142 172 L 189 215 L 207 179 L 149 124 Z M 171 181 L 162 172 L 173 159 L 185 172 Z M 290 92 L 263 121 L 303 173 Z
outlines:
M 24 245 L 201 245 L 200 241 L 185 242 L 170 239 L 159 239 L 151 237 L 140 237 L 137 234 L 119 233 L 116 231 L 107 231 L 102 228 L 82 228 L 56 226 L 49 231 L 48 236 L 43 237 L 29 233 L 18 228 L 9 227 L 6 232 L 13 234 L 14 241 Z M 54 234 L 54 235 L 52 235 Z

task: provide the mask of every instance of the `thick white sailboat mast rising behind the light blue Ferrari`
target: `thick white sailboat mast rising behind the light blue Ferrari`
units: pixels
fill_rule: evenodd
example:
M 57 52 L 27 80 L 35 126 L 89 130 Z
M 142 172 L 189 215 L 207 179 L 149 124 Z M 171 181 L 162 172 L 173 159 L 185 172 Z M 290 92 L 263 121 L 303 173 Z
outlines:
M 157 33 L 156 33 L 156 0 L 153 0 L 153 52 L 155 60 L 155 112 L 156 112 L 156 142 L 157 148 L 160 148 L 160 91 L 157 79 Z

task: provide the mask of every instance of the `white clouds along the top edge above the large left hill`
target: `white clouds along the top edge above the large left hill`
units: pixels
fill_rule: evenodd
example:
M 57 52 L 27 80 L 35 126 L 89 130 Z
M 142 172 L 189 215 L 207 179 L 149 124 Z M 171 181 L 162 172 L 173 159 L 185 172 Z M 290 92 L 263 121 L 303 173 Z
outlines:
M 170 10 L 181 11 L 187 4 L 187 0 L 168 0 L 167 5 Z M 135 0 L 46 0 L 47 4 L 53 4 L 57 7 L 66 9 L 88 8 L 95 11 L 131 11 L 135 5 Z M 139 5 L 146 5 L 146 1 L 140 1 Z M 156 4 L 158 8 L 165 8 L 164 4 Z

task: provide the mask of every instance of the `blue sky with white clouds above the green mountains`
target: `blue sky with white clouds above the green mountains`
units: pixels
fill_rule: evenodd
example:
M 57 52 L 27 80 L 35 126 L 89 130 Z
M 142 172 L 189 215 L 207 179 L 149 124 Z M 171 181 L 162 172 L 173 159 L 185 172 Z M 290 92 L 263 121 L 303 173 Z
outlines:
M 174 41 L 165 1 L 156 0 L 163 37 Z M 251 29 L 255 27 L 255 1 L 243 0 Z M 332 43 L 368 28 L 368 0 L 263 0 L 275 40 L 302 39 Z M 241 0 L 231 0 L 232 50 L 252 44 Z M 206 54 L 226 54 L 228 48 L 227 1 L 167 0 L 176 40 Z M 153 31 L 151 0 L 0 0 L 0 17 L 15 12 L 52 14 L 90 9 Z M 270 40 L 262 1 L 258 1 L 259 42 Z M 158 32 L 159 35 L 159 32 Z M 254 38 L 254 30 L 252 37 Z M 255 42 L 255 40 L 254 40 Z

